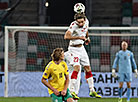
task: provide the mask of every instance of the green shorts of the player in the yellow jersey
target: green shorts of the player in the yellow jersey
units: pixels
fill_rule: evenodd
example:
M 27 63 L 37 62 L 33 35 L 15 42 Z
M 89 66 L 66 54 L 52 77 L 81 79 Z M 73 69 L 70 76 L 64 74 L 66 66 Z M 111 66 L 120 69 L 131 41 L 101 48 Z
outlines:
M 63 101 L 67 101 L 68 98 L 72 98 L 72 95 L 69 91 L 69 89 L 67 89 L 67 93 L 65 96 L 59 95 L 56 96 L 54 93 L 50 95 L 52 98 L 52 102 L 63 102 Z

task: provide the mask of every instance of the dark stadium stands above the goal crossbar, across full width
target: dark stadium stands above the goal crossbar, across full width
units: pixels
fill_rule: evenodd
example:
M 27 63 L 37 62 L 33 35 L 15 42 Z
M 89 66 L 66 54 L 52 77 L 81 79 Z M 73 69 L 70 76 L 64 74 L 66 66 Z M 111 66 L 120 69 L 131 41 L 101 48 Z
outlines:
M 90 26 L 138 25 L 137 0 L 0 0 L 0 20 L 7 13 L 5 9 L 17 1 L 20 3 L 1 25 L 68 26 L 73 21 L 73 6 L 78 2 L 85 5 Z

